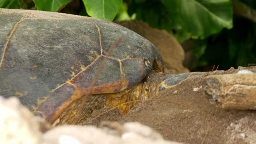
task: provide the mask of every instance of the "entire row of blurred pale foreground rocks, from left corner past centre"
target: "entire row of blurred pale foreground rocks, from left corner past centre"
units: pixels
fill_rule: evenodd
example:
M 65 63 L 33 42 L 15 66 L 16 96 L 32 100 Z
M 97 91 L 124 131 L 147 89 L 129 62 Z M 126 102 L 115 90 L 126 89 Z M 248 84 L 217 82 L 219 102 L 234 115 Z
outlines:
M 113 131 L 115 133 L 113 133 Z M 103 122 L 92 125 L 62 125 L 49 128 L 42 118 L 22 106 L 17 98 L 0 97 L 0 143 L 177 143 L 164 140 L 154 129 L 137 122 Z

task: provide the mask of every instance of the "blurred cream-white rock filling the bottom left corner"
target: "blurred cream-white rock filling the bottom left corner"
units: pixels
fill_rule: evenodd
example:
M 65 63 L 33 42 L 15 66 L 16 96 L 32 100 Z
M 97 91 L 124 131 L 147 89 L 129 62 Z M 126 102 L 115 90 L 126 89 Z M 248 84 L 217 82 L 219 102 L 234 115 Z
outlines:
M 36 117 L 16 98 L 0 99 L 0 143 L 39 143 Z

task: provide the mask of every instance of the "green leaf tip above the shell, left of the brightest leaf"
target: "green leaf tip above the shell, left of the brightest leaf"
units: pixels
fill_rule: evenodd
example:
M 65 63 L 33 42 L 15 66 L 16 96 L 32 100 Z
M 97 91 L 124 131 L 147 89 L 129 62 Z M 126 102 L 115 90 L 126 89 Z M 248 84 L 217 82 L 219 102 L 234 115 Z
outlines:
M 33 0 L 38 10 L 44 11 L 59 11 L 70 0 Z

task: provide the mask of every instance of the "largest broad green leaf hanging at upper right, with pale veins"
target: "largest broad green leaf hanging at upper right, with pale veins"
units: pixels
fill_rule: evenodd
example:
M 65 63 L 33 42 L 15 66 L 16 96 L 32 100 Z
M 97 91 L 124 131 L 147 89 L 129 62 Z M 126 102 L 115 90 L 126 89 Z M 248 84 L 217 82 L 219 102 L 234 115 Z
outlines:
M 232 4 L 229 0 L 161 0 L 168 11 L 171 26 L 191 35 L 194 39 L 204 39 L 232 28 Z

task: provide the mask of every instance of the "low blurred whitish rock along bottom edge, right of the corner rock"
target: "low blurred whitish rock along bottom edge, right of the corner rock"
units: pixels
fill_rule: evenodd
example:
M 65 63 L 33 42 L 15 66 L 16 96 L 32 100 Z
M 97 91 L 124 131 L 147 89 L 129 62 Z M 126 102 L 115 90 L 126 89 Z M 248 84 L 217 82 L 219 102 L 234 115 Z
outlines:
M 112 132 L 108 133 L 107 129 L 103 130 L 94 126 L 62 125 L 46 131 L 43 135 L 43 144 L 63 144 L 60 143 L 60 139 L 69 143 L 91 144 L 177 144 L 177 142 L 162 139 L 162 136 L 152 128 L 139 123 L 125 123 L 121 129 L 123 129 L 123 134 L 118 136 L 112 134 L 113 129 L 110 130 Z M 63 136 L 65 136 L 65 139 L 63 139 Z M 65 141 L 62 142 L 65 143 Z

